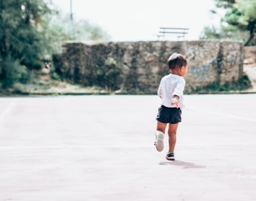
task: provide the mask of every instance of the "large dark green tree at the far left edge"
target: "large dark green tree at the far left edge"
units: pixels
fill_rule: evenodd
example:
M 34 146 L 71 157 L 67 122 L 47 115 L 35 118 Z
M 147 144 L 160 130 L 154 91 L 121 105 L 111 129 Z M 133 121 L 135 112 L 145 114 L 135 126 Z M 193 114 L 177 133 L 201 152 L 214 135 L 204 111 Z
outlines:
M 49 38 L 42 34 L 44 16 L 52 11 L 43 0 L 0 1 L 0 79 L 3 88 L 18 81 L 27 68 L 40 67 L 50 52 Z

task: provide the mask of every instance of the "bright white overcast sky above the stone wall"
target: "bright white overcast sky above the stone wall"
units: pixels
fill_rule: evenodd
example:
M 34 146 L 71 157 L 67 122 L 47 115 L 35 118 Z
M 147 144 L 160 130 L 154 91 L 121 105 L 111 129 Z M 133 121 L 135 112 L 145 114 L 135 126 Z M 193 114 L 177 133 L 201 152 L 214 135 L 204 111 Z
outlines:
M 198 40 L 204 26 L 219 26 L 212 15 L 214 0 L 52 0 L 75 20 L 88 20 L 110 35 L 112 42 L 150 40 Z M 160 27 L 189 28 L 185 38 L 159 35 Z

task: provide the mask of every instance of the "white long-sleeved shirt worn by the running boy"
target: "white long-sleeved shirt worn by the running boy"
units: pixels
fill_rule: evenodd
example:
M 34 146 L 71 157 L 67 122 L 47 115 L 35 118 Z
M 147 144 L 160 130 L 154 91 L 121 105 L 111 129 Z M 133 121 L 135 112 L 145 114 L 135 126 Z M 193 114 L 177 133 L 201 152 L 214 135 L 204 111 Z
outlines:
M 168 108 L 175 108 L 175 104 L 171 104 L 171 99 L 174 95 L 179 97 L 179 107 L 181 110 L 185 108 L 183 91 L 185 89 L 186 81 L 183 77 L 175 74 L 165 75 L 161 79 L 157 95 L 161 96 L 161 104 Z

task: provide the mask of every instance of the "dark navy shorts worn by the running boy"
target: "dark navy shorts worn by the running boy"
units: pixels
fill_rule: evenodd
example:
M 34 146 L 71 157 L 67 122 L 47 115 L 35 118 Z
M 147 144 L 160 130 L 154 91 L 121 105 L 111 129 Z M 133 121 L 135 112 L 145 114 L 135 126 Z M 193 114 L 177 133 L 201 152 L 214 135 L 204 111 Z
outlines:
M 181 109 L 180 108 L 167 108 L 161 105 L 158 108 L 157 117 L 155 118 L 158 122 L 177 124 L 181 122 Z

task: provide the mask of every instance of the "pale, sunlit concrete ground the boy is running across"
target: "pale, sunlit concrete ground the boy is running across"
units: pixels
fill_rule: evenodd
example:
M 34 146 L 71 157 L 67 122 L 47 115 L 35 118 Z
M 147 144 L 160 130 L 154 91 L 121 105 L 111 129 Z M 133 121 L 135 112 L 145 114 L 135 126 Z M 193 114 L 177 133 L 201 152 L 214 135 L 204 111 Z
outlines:
M 0 98 L 0 200 L 256 200 L 256 95 L 186 95 L 175 161 L 159 98 Z

